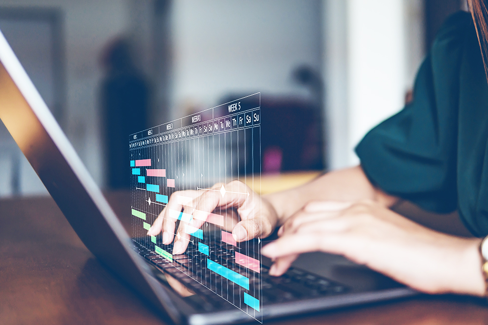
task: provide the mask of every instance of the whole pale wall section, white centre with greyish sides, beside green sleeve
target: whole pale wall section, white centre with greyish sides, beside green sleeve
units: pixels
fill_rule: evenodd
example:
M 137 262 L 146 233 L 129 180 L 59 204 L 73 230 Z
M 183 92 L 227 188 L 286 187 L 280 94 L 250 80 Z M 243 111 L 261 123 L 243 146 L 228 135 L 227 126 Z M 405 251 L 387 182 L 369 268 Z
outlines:
M 324 76 L 329 167 L 359 163 L 354 148 L 404 106 L 424 57 L 422 0 L 325 0 Z

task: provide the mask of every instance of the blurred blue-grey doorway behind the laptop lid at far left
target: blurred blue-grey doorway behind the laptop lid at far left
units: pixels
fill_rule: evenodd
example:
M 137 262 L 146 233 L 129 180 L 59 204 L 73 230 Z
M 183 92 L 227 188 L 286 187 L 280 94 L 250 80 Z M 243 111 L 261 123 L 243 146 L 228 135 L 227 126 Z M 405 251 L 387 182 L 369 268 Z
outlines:
M 61 12 L 49 8 L 0 8 L 0 30 L 62 125 L 65 81 Z M 0 196 L 46 192 L 1 122 L 0 167 Z

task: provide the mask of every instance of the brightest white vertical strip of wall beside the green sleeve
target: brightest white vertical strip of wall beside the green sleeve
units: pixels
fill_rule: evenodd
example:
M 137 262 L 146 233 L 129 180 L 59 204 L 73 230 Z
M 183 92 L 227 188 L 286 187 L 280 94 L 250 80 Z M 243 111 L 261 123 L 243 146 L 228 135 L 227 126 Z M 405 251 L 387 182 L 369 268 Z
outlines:
M 403 0 L 348 0 L 349 136 L 352 149 L 367 131 L 404 104 L 406 51 Z

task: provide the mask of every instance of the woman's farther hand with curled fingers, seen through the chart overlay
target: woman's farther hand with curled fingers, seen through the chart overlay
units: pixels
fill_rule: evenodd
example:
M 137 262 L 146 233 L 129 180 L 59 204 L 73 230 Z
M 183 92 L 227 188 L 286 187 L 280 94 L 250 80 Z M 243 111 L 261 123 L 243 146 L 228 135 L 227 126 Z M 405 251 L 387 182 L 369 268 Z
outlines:
M 224 191 L 221 191 L 222 186 Z M 178 203 L 178 195 L 191 197 L 191 206 L 184 206 L 181 201 Z M 156 236 L 163 232 L 164 245 L 171 244 L 175 234 L 179 234 L 173 245 L 173 254 L 182 254 L 188 247 L 190 235 L 184 232 L 183 222 L 175 231 L 176 219 L 170 217 L 170 210 L 183 210 L 183 213 L 192 214 L 194 217 L 191 226 L 199 229 L 208 215 L 217 208 L 237 210 L 240 221 L 232 229 L 232 236 L 237 242 L 267 237 L 278 222 L 275 209 L 265 198 L 253 192 L 243 182 L 235 180 L 228 184 L 215 184 L 207 190 L 174 192 L 147 234 Z M 196 211 L 199 214 L 198 219 L 195 218 Z

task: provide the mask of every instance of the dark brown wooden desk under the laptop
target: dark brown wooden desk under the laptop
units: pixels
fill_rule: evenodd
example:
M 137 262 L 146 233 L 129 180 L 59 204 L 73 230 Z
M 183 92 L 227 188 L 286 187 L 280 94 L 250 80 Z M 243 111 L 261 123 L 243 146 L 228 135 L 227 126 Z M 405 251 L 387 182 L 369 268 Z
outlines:
M 108 195 L 128 215 L 129 193 Z M 129 225 L 129 219 L 124 220 Z M 482 300 L 428 297 L 265 324 L 481 325 Z M 83 246 L 51 198 L 0 201 L 0 324 L 162 324 Z M 256 323 L 258 324 L 258 323 Z

